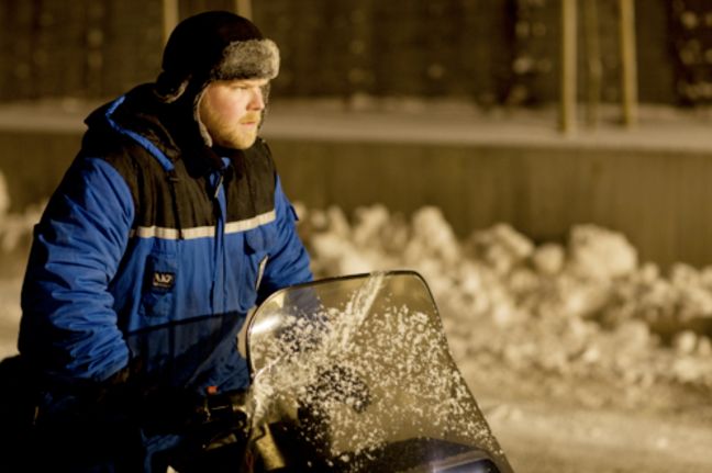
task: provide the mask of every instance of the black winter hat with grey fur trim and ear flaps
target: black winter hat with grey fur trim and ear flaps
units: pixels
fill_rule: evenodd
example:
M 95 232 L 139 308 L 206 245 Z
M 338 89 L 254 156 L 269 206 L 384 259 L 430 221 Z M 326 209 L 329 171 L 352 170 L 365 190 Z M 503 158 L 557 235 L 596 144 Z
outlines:
M 211 145 L 198 115 L 205 87 L 214 80 L 274 79 L 279 74 L 279 49 L 249 20 L 227 11 L 209 11 L 176 26 L 164 49 L 162 68 L 154 87 L 156 97 L 164 103 L 192 102 L 200 133 Z

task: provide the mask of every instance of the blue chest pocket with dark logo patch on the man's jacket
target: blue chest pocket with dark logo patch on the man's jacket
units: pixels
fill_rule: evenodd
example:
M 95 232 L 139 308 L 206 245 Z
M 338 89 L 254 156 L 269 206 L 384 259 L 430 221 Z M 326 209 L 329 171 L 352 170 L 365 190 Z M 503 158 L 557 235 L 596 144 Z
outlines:
M 148 256 L 141 296 L 141 314 L 167 317 L 173 313 L 177 269 L 175 254 L 155 252 Z

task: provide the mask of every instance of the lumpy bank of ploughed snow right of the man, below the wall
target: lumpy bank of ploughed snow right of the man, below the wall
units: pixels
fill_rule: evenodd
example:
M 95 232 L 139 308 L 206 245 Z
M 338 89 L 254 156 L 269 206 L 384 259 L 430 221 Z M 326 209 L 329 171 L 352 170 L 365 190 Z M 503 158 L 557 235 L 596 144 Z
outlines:
M 410 219 L 382 205 L 300 213 L 318 277 L 420 272 L 455 358 L 478 369 L 599 379 L 632 402 L 656 383 L 712 392 L 712 268 L 664 274 L 590 224 L 537 245 L 503 223 L 458 239 L 435 207 Z

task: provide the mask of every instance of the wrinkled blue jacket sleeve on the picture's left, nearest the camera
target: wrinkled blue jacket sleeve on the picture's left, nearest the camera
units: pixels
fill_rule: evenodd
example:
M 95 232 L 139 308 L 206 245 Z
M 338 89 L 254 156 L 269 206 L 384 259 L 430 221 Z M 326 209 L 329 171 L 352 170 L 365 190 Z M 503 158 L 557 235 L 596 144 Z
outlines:
M 46 374 L 101 382 L 127 364 L 109 284 L 133 217 L 129 185 L 104 159 L 78 158 L 52 196 L 35 227 L 19 338 Z

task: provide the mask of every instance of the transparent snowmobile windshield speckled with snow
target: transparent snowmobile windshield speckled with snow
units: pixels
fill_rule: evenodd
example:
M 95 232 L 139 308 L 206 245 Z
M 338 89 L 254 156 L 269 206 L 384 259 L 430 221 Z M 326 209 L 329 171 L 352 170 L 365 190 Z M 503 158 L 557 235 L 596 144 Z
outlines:
M 414 272 L 279 291 L 247 335 L 253 429 L 319 471 L 511 471 Z M 277 428 L 275 428 L 277 427 Z

